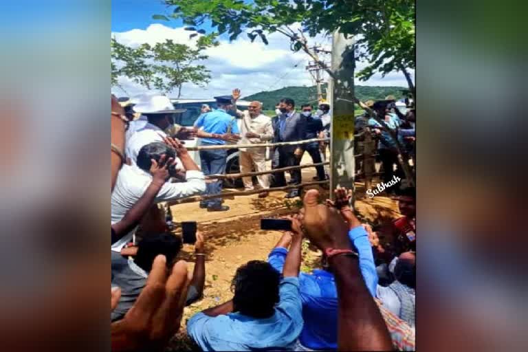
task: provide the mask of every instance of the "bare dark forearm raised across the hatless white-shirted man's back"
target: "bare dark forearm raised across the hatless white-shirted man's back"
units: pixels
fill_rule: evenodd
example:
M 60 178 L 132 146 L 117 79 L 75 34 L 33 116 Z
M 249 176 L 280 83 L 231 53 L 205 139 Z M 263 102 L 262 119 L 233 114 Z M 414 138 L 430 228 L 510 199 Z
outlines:
M 154 202 L 157 193 L 162 189 L 162 186 L 168 179 L 168 166 L 173 164 L 173 161 L 174 159 L 170 157 L 165 162 L 165 155 L 162 155 L 162 157 L 159 158 L 159 164 L 154 159 L 151 160 L 151 184 L 148 185 L 145 192 L 141 198 L 137 200 L 134 206 L 124 214 L 123 219 L 111 225 L 115 235 L 112 238 L 112 243 L 118 241 L 124 236 L 124 234 L 127 234 L 135 227 L 135 225 L 140 223 L 141 219 L 143 219 L 144 215 L 148 212 L 148 209 Z

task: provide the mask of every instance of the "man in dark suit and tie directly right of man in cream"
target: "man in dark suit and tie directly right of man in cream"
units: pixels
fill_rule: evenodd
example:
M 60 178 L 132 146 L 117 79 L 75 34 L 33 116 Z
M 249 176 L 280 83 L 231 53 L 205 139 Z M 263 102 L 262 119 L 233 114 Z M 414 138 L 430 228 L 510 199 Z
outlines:
M 272 118 L 274 129 L 274 143 L 278 142 L 296 142 L 306 139 L 306 118 L 295 111 L 295 102 L 293 99 L 281 99 L 278 109 L 281 114 Z M 272 168 L 284 168 L 287 166 L 296 166 L 303 155 L 303 148 L 300 145 L 276 146 L 273 151 Z M 300 184 L 300 169 L 292 170 L 292 184 Z M 284 172 L 274 173 L 274 186 L 286 186 Z M 299 189 L 290 190 L 287 198 L 299 196 Z

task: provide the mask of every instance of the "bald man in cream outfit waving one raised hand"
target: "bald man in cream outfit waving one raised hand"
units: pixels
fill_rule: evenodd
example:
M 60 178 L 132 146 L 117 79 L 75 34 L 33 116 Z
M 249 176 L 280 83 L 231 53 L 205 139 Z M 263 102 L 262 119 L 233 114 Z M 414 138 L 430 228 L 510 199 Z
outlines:
M 234 94 L 237 98 L 239 94 Z M 250 102 L 248 111 L 236 110 L 236 114 L 242 118 L 241 139 L 239 144 L 261 144 L 273 139 L 272 119 L 262 113 L 261 102 Z M 266 148 L 239 148 L 240 150 L 240 171 L 250 173 L 252 165 L 256 171 L 266 170 Z M 270 188 L 270 175 L 258 175 L 259 185 L 263 190 Z M 246 190 L 252 190 L 253 182 L 251 177 L 243 177 Z M 261 192 L 259 197 L 267 196 L 267 191 Z

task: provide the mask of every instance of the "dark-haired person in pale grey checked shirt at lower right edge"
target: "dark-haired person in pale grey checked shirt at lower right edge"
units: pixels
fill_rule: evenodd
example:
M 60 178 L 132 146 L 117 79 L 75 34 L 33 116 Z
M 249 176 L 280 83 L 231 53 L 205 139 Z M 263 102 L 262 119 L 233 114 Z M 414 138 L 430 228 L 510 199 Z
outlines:
M 377 298 L 411 327 L 415 327 L 416 253 L 402 253 L 394 267 L 395 281 L 388 287 L 377 287 Z

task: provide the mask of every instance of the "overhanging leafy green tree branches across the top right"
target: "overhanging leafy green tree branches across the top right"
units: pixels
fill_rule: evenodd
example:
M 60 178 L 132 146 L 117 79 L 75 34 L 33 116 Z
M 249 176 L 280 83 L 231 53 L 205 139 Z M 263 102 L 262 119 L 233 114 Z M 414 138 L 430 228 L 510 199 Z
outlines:
M 414 95 L 415 86 L 408 69 L 415 69 L 414 0 L 166 0 L 174 6 L 169 17 L 183 19 L 192 26 L 210 25 L 230 40 L 245 32 L 251 41 L 257 37 L 267 44 L 266 34 L 279 32 L 289 38 L 292 50 L 303 50 L 321 63 L 310 50 L 305 34 L 329 34 L 338 30 L 357 36 L 356 59 L 369 65 L 358 72 L 367 80 L 380 72 L 400 71 Z M 168 19 L 155 15 L 156 19 Z M 300 23 L 300 30 L 293 25 Z M 333 72 L 327 69 L 333 77 Z

